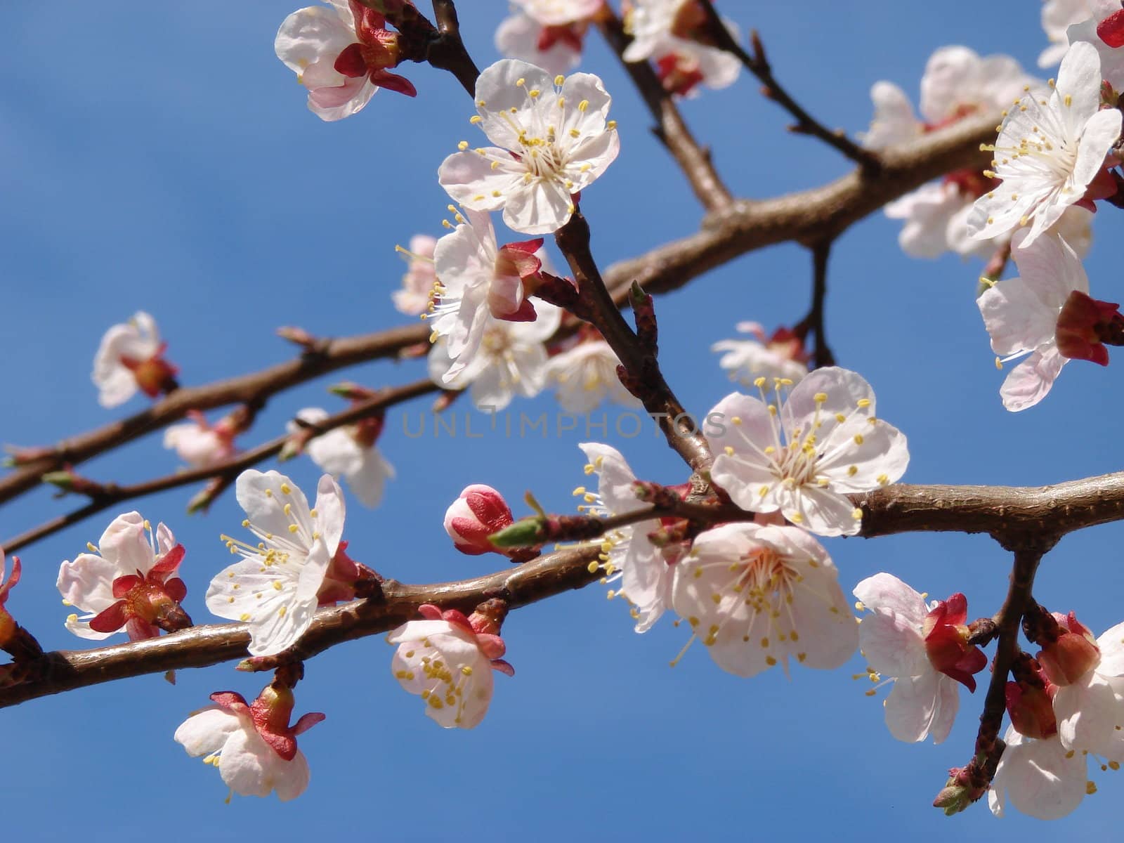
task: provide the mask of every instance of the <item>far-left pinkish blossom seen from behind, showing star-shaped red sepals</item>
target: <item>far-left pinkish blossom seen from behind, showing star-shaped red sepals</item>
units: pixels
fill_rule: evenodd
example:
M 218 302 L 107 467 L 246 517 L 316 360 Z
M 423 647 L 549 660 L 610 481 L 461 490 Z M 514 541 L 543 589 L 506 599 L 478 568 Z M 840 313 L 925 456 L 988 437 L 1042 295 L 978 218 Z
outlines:
M 63 604 L 87 613 L 70 615 L 67 629 L 100 641 L 124 628 L 140 641 L 191 626 L 180 608 L 188 588 L 176 575 L 184 551 L 172 531 L 161 524 L 154 532 L 139 513 L 126 513 L 89 547 L 58 569 Z

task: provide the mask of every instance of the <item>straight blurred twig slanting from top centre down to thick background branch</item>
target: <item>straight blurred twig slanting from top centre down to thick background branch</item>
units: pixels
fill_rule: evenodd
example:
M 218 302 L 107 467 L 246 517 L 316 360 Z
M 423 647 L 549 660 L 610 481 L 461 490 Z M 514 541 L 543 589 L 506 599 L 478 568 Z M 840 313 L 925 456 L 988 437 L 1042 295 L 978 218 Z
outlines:
M 620 18 L 606 6 L 598 13 L 597 26 L 613 52 L 620 58 L 624 69 L 632 76 L 633 83 L 647 105 L 647 110 L 655 118 L 653 133 L 676 158 L 699 202 L 708 211 L 729 208 L 734 201 L 733 196 L 715 170 L 709 149 L 700 146 L 691 135 L 674 100 L 663 89 L 651 63 L 624 61 L 625 47 L 632 42 L 632 37 L 625 33 Z

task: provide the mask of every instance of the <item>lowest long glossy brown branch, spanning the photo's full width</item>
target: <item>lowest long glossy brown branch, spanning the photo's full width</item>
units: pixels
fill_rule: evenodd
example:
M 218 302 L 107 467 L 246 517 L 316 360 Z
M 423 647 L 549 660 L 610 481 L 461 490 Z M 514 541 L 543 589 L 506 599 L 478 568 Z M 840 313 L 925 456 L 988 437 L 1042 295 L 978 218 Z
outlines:
M 863 508 L 863 536 L 933 531 L 991 533 L 1016 550 L 1012 593 L 996 616 L 1001 649 L 1001 631 L 1005 624 L 1017 625 L 1017 619 L 1010 618 L 1016 613 L 1021 616 L 1026 606 L 1033 569 L 1042 553 L 1066 533 L 1124 517 L 1124 472 L 1037 489 L 899 483 L 853 499 Z M 692 508 L 691 513 L 698 515 L 699 510 Z M 1045 535 L 1043 524 L 1049 525 Z M 382 602 L 351 602 L 317 613 L 291 655 L 309 658 L 339 642 L 386 632 L 414 617 L 424 602 L 472 609 L 483 599 L 504 596 L 518 607 L 581 588 L 600 577 L 589 571 L 599 551 L 597 544 L 570 549 L 516 569 L 435 586 L 387 580 Z M 126 677 L 242 659 L 247 655 L 248 641 L 244 625 L 224 624 L 97 650 L 48 653 L 38 673 L 33 672 L 24 683 L 0 688 L 0 707 Z

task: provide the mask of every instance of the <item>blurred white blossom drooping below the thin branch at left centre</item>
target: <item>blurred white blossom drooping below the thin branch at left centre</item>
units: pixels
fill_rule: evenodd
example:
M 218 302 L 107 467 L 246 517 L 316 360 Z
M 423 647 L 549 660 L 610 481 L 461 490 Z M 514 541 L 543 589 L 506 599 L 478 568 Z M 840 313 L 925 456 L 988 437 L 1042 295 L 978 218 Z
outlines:
M 297 418 L 312 425 L 327 417 L 327 411 L 319 407 L 306 407 L 297 413 Z M 305 445 L 309 459 L 321 471 L 346 480 L 352 495 L 368 508 L 382 502 L 387 481 L 395 479 L 395 466 L 375 446 L 383 424 L 384 419 L 380 416 L 364 418 L 354 425 L 334 427 Z M 288 429 L 289 433 L 297 433 L 300 426 L 290 422 Z

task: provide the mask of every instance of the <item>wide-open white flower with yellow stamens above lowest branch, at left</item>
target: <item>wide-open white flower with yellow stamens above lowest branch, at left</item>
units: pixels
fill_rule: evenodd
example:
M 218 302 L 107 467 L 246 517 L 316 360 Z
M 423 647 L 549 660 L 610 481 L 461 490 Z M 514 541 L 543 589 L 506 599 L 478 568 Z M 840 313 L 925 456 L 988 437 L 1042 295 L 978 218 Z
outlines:
M 259 543 L 223 536 L 242 561 L 211 580 L 207 608 L 250 625 L 253 655 L 273 655 L 296 644 L 312 623 L 321 590 L 330 589 L 329 569 L 344 531 L 344 498 L 330 474 L 320 478 L 316 491 L 311 509 L 305 492 L 277 471 L 250 469 L 235 483 L 247 516 L 242 525 Z

